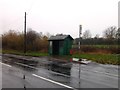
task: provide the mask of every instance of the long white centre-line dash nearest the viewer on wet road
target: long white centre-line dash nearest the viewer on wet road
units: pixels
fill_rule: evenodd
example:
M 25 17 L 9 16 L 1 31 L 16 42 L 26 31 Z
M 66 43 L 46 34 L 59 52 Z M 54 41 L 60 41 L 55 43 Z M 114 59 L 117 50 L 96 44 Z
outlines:
M 60 85 L 60 86 L 66 87 L 66 88 L 75 89 L 75 88 L 73 88 L 73 87 L 70 87 L 70 86 L 67 86 L 67 85 L 65 85 L 65 84 L 62 84 L 62 83 L 59 83 L 59 82 L 56 82 L 56 81 L 53 81 L 53 80 L 50 80 L 50 79 L 47 79 L 47 78 L 38 76 L 38 75 L 36 75 L 36 74 L 32 74 L 32 75 L 35 76 L 35 77 L 38 77 L 38 78 L 40 78 L 40 79 L 43 79 L 43 80 L 45 80 L 45 81 L 48 81 L 48 82 L 51 82 L 51 83 L 54 83 L 54 84 L 57 84 L 57 85 Z

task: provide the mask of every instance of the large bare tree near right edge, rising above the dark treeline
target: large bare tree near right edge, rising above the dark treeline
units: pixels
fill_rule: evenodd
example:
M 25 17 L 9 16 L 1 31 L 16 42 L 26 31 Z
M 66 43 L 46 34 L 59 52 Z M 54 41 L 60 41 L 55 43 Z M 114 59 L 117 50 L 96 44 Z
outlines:
M 117 33 L 117 28 L 116 26 L 111 26 L 108 27 L 104 32 L 103 32 L 103 36 L 106 39 L 114 39 L 116 37 L 116 33 Z

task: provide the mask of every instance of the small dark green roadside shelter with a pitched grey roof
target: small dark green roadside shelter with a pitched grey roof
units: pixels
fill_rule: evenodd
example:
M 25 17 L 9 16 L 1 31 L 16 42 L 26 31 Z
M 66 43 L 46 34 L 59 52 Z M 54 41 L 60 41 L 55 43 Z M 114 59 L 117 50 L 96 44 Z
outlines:
M 49 39 L 49 55 L 69 55 L 73 38 L 70 35 L 58 34 Z

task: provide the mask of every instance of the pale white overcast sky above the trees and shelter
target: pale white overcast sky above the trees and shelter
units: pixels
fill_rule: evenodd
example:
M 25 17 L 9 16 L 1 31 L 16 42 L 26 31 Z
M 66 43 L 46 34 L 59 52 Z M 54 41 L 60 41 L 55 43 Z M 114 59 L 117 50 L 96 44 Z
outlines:
M 102 35 L 109 26 L 118 26 L 119 0 L 0 0 L 0 33 L 10 29 L 27 28 L 43 33 L 63 33 L 78 37 L 90 30 L 93 36 Z

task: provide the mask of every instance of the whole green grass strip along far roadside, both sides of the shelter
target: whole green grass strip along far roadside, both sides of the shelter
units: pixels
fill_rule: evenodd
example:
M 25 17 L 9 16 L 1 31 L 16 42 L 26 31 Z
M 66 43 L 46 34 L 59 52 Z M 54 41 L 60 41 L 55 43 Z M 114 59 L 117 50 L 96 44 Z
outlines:
M 24 55 L 23 51 L 16 51 L 16 50 L 2 50 L 2 53 L 8 54 L 16 54 L 16 55 Z M 88 54 L 88 53 L 81 53 L 81 54 L 73 54 L 73 55 L 66 55 L 66 56 L 55 56 L 55 58 L 62 59 L 62 60 L 70 60 L 71 58 L 85 58 L 97 63 L 101 64 L 114 64 L 120 65 L 120 60 L 118 59 L 120 54 Z M 48 53 L 43 52 L 27 52 L 26 56 L 49 56 Z M 54 57 L 54 56 L 52 56 Z

